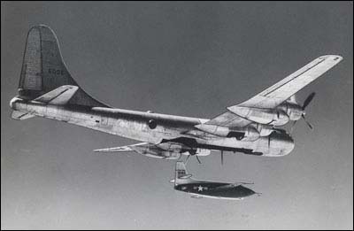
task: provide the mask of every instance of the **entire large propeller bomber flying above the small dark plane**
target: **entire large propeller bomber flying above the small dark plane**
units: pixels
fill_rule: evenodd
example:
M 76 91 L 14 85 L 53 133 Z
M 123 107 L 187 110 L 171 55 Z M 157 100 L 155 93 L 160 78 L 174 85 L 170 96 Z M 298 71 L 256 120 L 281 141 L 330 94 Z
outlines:
M 155 158 L 180 158 L 181 154 L 206 156 L 211 150 L 229 150 L 280 157 L 294 149 L 294 141 L 277 127 L 304 119 L 304 108 L 314 96 L 308 96 L 301 106 L 296 92 L 341 60 L 338 55 L 315 58 L 212 119 L 136 112 L 111 108 L 81 89 L 65 66 L 57 36 L 50 27 L 38 25 L 28 31 L 19 96 L 10 103 L 12 118 L 57 119 L 142 142 L 96 151 L 134 150 Z

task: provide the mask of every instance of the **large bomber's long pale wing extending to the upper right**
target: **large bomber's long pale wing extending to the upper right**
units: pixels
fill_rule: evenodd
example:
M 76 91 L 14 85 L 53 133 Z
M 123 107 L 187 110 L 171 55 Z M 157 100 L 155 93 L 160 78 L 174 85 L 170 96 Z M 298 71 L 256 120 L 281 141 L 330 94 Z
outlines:
M 233 113 L 237 107 L 272 109 L 289 99 L 291 96 L 294 96 L 297 91 L 303 89 L 306 85 L 319 78 L 319 76 L 337 65 L 341 60 L 342 57 L 336 55 L 327 55 L 316 58 L 295 73 L 291 73 L 285 79 L 275 83 L 272 87 L 265 89 L 257 96 L 251 97 L 242 104 L 227 107 L 227 112 L 210 119 L 205 124 L 225 127 L 245 127 L 249 125 L 251 121 Z

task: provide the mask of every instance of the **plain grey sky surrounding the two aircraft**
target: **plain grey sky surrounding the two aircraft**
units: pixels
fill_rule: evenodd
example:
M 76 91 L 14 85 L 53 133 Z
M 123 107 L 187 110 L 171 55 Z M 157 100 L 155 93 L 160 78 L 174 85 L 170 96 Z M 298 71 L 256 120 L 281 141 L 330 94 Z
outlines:
M 1 3 L 1 227 L 353 228 L 353 4 Z M 321 55 L 339 65 L 317 92 L 282 158 L 219 153 L 189 172 L 254 181 L 241 202 L 173 190 L 175 161 L 91 150 L 134 143 L 50 119 L 10 119 L 27 31 L 58 35 L 65 63 L 113 106 L 212 118 Z

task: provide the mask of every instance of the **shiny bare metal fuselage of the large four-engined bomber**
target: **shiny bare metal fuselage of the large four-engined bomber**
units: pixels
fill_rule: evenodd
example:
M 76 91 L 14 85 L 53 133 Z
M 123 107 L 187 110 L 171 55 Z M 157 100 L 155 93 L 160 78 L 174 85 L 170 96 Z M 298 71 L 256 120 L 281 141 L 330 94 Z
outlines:
M 235 137 L 219 137 L 205 133 L 203 136 L 184 134 L 196 130 L 197 124 L 208 119 L 173 116 L 151 112 L 137 112 L 104 107 L 80 105 L 52 105 L 27 101 L 14 97 L 10 103 L 15 111 L 29 112 L 35 116 L 65 121 L 81 127 L 89 127 L 104 133 L 119 135 L 141 142 L 159 143 L 174 139 L 189 139 L 196 147 L 209 150 L 233 150 L 247 154 L 279 157 L 289 154 L 294 142 L 289 135 L 259 137 L 253 142 L 238 141 Z M 157 127 L 150 128 L 148 122 L 154 119 Z M 189 144 L 190 145 L 190 144 Z

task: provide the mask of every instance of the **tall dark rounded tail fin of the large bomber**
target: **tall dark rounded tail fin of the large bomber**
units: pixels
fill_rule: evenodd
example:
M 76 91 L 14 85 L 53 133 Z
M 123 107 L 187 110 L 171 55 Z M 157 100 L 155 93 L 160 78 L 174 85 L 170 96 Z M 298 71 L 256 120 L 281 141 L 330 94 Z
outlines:
M 50 27 L 32 27 L 27 35 L 19 79 L 19 97 L 32 100 L 64 85 L 79 87 L 67 71 L 57 36 Z M 108 107 L 89 96 L 80 87 L 68 104 Z

